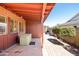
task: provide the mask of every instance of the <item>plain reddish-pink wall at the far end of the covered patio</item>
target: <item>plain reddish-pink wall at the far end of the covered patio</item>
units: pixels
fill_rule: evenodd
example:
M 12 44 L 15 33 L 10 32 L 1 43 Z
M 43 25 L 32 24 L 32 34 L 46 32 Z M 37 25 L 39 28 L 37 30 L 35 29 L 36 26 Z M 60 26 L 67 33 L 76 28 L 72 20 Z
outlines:
M 33 38 L 41 38 L 42 37 L 42 23 L 41 22 L 34 22 L 34 21 L 27 21 L 26 22 L 26 32 L 31 33 Z

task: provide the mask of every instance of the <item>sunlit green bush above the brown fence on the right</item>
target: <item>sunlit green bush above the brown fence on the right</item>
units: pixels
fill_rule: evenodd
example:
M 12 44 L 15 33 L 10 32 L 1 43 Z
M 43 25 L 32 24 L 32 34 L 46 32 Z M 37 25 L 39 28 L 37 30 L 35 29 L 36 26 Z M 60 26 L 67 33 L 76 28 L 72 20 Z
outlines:
M 53 33 L 59 36 L 76 36 L 76 30 L 74 27 L 55 27 L 52 29 Z

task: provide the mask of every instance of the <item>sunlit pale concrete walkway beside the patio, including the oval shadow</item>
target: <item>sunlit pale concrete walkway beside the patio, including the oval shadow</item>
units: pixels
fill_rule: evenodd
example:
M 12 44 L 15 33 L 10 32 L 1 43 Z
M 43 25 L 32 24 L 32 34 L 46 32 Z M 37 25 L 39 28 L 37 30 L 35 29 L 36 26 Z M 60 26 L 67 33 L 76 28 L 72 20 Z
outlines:
M 52 41 L 52 42 L 51 42 Z M 74 56 L 62 47 L 56 37 L 44 35 L 43 56 Z

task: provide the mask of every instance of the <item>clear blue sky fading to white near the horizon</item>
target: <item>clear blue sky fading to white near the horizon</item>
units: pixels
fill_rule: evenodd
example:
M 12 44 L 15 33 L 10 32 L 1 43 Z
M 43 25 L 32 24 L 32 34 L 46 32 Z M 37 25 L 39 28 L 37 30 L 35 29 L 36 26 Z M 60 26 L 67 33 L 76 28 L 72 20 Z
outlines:
M 63 24 L 79 13 L 79 3 L 57 3 L 51 10 L 44 25 L 52 27 Z

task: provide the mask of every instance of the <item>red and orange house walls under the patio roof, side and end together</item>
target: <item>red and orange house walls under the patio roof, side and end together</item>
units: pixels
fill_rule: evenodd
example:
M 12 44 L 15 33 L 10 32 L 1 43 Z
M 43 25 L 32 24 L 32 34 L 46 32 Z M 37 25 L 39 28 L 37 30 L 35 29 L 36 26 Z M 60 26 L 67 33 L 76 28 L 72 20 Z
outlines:
M 7 33 L 5 35 L 0 35 L 0 50 L 1 50 L 6 49 L 11 45 L 15 44 L 16 37 L 18 36 L 18 32 L 16 33 L 10 32 L 10 18 L 18 22 L 24 22 L 24 24 L 25 20 L 1 6 L 0 6 L 0 15 L 7 18 L 7 25 L 8 25 L 8 28 L 6 29 Z M 26 20 L 25 27 L 26 27 L 26 33 L 31 33 L 33 38 L 40 38 L 40 41 L 42 42 L 43 23 L 41 23 L 40 21 Z

